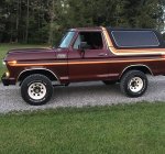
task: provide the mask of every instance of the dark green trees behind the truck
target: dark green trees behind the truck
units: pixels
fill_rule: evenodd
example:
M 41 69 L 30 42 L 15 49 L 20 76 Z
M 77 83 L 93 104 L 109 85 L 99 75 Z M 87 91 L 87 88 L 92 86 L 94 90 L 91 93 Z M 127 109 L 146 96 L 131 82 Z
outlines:
M 164 0 L 2 0 L 1 43 L 48 43 L 76 26 L 164 29 Z

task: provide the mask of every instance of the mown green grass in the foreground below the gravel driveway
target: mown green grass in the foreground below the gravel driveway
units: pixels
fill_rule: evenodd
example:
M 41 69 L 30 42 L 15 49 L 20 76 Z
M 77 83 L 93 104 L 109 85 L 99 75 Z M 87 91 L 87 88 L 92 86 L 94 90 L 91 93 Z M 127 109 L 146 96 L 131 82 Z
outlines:
M 165 103 L 0 116 L 2 154 L 164 154 Z

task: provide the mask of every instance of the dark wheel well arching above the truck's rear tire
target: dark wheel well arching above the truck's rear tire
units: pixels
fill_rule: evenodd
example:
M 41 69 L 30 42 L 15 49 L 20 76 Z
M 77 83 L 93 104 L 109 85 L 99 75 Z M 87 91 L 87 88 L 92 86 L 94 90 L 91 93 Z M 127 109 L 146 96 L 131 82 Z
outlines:
M 123 69 L 123 72 L 120 75 L 120 79 L 125 73 L 128 73 L 130 70 L 140 70 L 144 74 L 153 75 L 152 70 L 147 66 L 130 66 L 130 67 L 127 67 L 125 69 Z

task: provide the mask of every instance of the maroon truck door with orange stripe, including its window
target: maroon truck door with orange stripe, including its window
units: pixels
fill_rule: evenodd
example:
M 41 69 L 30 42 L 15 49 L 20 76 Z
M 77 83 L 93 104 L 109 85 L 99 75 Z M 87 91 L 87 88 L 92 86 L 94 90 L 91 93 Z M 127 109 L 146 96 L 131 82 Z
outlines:
M 81 42 L 88 47 L 82 52 Z M 78 32 L 68 52 L 68 73 L 70 81 L 103 80 L 109 78 L 109 51 L 101 31 Z

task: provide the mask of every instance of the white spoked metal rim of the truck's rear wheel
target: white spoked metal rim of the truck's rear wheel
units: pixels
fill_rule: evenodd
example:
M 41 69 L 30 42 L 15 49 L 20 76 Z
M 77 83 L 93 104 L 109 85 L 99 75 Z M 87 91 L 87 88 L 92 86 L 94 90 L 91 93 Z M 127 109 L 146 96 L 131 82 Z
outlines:
M 143 89 L 144 82 L 140 77 L 134 77 L 129 82 L 129 89 L 132 92 L 139 92 Z

